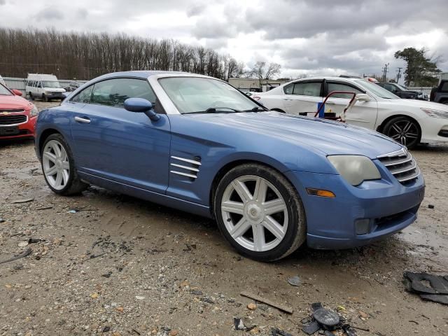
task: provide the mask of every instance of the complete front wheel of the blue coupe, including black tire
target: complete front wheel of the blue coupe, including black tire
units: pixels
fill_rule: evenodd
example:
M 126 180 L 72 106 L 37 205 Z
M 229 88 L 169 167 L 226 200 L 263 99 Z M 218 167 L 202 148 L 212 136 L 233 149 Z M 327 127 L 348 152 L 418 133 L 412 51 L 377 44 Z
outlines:
M 231 169 L 214 197 L 218 228 L 242 255 L 274 261 L 306 238 L 304 209 L 296 190 L 274 169 L 246 164 Z

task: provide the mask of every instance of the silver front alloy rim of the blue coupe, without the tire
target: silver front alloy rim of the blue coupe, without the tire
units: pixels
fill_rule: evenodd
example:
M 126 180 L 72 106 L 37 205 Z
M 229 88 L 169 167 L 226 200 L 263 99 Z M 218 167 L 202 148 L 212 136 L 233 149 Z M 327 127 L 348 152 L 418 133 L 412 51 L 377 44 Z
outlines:
M 272 250 L 288 230 L 285 200 L 260 176 L 239 176 L 225 188 L 221 216 L 232 239 L 250 251 Z

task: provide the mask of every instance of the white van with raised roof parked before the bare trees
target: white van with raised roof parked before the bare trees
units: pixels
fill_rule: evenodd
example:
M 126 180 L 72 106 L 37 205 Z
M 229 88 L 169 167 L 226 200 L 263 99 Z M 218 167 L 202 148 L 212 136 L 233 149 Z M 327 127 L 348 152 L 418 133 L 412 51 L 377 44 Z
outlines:
M 49 102 L 50 99 L 64 99 L 65 90 L 54 75 L 29 73 L 27 77 L 27 94 L 32 99 L 39 98 Z

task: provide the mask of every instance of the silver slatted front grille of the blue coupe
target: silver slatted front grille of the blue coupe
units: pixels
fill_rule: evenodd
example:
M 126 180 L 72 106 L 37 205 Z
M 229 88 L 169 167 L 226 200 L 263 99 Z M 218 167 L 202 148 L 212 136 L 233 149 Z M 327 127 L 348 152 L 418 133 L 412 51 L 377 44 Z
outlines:
M 414 181 L 420 175 L 419 166 L 406 148 L 393 153 L 381 155 L 378 160 L 389 169 L 395 178 L 402 184 Z

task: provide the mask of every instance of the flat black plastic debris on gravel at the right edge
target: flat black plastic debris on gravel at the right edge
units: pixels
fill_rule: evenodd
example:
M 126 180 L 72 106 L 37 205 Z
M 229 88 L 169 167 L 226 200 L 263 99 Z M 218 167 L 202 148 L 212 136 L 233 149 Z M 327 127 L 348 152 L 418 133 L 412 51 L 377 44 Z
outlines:
M 448 304 L 448 275 L 405 272 L 403 277 L 408 292 L 419 294 L 423 300 Z

